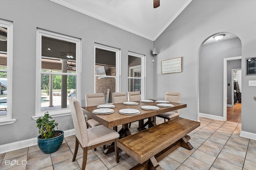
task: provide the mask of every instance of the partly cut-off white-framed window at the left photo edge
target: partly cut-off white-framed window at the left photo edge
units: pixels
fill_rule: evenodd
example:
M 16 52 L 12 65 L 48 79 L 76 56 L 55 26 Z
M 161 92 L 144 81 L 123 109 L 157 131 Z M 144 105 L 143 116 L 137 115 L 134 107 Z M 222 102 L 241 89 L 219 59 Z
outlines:
M 13 23 L 0 20 L 0 125 L 12 119 L 12 45 Z

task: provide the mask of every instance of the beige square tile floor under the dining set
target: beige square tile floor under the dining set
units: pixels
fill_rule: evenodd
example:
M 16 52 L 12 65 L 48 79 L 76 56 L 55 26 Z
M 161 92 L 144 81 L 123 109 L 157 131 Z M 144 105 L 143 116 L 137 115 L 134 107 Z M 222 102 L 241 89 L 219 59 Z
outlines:
M 157 124 L 163 119 L 158 118 Z M 188 135 L 194 147 L 179 147 L 159 164 L 163 170 L 256 170 L 256 141 L 240 137 L 241 124 L 200 117 L 201 125 Z M 136 133 L 138 122 L 132 123 L 131 133 Z M 82 165 L 82 149 L 72 162 L 74 135 L 65 137 L 60 149 L 44 154 L 37 145 L 0 154 L 0 170 L 79 170 Z M 120 162 L 114 153 L 104 155 L 103 148 L 88 151 L 86 170 L 128 170 L 137 162 L 120 150 Z M 14 166 L 5 165 L 18 160 Z M 22 160 L 26 160 L 23 162 Z M 15 163 L 15 162 L 14 162 Z

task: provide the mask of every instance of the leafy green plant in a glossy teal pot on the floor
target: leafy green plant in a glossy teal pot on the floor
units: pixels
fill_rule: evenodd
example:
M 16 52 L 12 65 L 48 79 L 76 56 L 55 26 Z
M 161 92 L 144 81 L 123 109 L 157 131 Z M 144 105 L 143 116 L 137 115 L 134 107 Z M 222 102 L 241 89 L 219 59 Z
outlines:
M 38 127 L 40 133 L 37 137 L 37 144 L 45 154 L 57 151 L 64 140 L 64 131 L 55 131 L 55 127 L 58 129 L 58 123 L 49 119 L 52 119 L 52 117 L 49 116 L 47 111 L 43 117 L 36 120 L 36 127 Z

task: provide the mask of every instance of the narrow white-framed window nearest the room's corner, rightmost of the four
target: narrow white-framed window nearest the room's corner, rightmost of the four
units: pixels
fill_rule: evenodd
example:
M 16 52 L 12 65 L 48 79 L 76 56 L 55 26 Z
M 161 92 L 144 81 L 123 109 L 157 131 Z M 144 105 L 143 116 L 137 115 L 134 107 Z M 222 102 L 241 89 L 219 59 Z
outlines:
M 128 52 L 128 92 L 140 91 L 144 99 L 144 55 Z

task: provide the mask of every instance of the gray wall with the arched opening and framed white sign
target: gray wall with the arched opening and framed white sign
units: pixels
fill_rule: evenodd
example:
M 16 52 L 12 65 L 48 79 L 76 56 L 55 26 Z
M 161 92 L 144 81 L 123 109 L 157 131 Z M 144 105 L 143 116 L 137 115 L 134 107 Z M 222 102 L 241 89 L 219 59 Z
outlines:
M 242 131 L 256 133 L 256 102 L 253 100 L 256 87 L 248 86 L 248 80 L 256 80 L 256 76 L 245 76 L 245 59 L 256 55 L 255 21 L 254 0 L 190 2 L 154 41 L 154 47 L 160 50 L 154 63 L 154 98 L 163 99 L 166 91 L 181 92 L 181 102 L 186 103 L 187 108 L 180 110 L 180 116 L 198 120 L 201 45 L 205 39 L 216 33 L 233 33 L 242 43 Z M 183 57 L 182 72 L 161 74 L 161 61 L 175 57 Z M 223 70 L 223 64 L 216 65 L 216 68 Z M 222 108 L 223 104 L 212 109 L 219 107 Z M 223 116 L 222 111 L 217 115 Z

